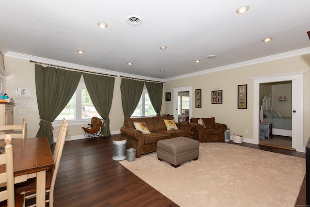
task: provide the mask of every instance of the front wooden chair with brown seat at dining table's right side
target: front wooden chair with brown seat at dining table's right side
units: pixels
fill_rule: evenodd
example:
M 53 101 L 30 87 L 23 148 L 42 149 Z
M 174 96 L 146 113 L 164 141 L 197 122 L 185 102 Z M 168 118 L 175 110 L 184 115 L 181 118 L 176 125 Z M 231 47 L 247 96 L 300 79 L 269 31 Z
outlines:
M 60 137 L 60 143 L 59 143 L 59 148 L 57 152 L 56 159 L 54 159 L 55 166 L 51 171 L 47 171 L 47 177 L 46 177 L 46 193 L 49 192 L 49 199 L 46 200 L 46 203 L 49 202 L 49 207 L 54 206 L 54 188 L 55 188 L 55 182 L 56 182 L 56 176 L 58 173 L 59 165 L 60 165 L 60 160 L 62 157 L 62 149 L 63 145 L 65 143 L 65 137 L 67 134 L 67 127 L 68 123 L 64 124 L 64 127 L 62 128 L 62 134 Z M 57 140 L 58 141 L 58 140 Z M 36 197 L 36 179 L 32 178 L 26 181 L 25 183 L 19 183 L 16 185 L 16 193 L 20 194 L 25 194 L 25 201 L 27 199 L 35 198 Z M 32 205 L 30 207 L 34 207 L 36 205 Z

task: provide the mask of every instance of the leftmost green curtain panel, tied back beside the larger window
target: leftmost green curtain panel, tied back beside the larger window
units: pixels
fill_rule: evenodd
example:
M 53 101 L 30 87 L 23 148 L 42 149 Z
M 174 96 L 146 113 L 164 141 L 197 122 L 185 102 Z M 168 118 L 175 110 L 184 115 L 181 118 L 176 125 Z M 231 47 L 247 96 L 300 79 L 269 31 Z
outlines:
M 75 93 L 82 73 L 35 64 L 35 88 L 40 114 L 37 137 L 47 136 L 53 143 L 52 122 Z

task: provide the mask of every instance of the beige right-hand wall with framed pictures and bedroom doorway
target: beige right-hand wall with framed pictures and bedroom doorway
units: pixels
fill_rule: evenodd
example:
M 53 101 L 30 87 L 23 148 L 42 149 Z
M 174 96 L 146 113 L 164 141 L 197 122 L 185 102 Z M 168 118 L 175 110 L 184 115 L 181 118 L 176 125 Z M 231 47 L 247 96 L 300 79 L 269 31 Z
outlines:
M 308 60 L 308 61 L 307 61 Z M 253 139 L 253 80 L 256 77 L 268 77 L 279 74 L 307 71 L 303 75 L 304 84 L 304 145 L 310 136 L 310 55 L 302 55 L 266 63 L 253 64 L 233 69 L 202 74 L 180 80 L 166 81 L 164 92 L 173 92 L 173 88 L 192 86 L 202 89 L 202 108 L 192 109 L 193 117 L 216 117 L 216 122 L 227 124 L 230 134 L 243 134 Z M 237 85 L 248 84 L 248 109 L 237 109 Z M 223 104 L 211 104 L 211 91 L 223 90 Z M 172 95 L 173 93 L 171 93 Z M 173 99 L 165 102 L 166 112 L 173 112 Z M 195 103 L 193 97 L 193 103 Z M 168 113 L 167 112 L 167 113 Z M 163 113 L 163 112 L 162 112 Z M 248 133 L 246 133 L 248 129 Z

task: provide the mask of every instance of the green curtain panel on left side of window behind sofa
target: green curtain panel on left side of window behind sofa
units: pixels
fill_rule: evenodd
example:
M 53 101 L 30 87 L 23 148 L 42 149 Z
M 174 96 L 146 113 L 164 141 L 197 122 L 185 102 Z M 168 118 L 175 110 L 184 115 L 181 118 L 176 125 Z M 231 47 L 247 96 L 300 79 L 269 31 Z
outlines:
M 143 91 L 144 81 L 122 79 L 121 94 L 124 120 L 130 118 L 135 111 Z

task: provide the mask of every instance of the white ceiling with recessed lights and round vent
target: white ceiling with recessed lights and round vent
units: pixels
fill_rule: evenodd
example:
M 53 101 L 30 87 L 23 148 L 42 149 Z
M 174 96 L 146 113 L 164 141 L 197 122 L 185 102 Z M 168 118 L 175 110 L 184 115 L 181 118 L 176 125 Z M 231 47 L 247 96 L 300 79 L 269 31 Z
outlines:
M 244 14 L 238 7 L 249 5 Z M 131 26 L 128 16 L 142 23 Z M 98 22 L 105 22 L 106 29 Z M 1 0 L 2 50 L 154 79 L 310 47 L 310 0 Z M 263 38 L 272 36 L 269 43 Z M 167 46 L 166 50 L 159 49 Z M 77 50 L 84 50 L 78 54 Z M 210 60 L 208 55 L 217 55 Z M 194 60 L 200 59 L 200 63 Z M 132 62 L 132 65 L 127 65 Z M 165 70 L 160 72 L 160 70 Z

